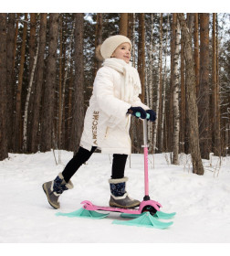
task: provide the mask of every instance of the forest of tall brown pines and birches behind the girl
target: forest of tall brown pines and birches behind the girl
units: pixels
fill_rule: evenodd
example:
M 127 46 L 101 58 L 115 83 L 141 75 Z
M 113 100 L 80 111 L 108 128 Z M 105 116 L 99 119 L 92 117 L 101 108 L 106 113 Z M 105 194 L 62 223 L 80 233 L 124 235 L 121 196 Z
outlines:
M 78 150 L 101 66 L 95 48 L 116 34 L 131 38 L 141 101 L 157 112 L 150 152 L 172 152 L 173 164 L 191 153 L 197 165 L 228 155 L 229 24 L 226 13 L 2 13 L 0 159 Z M 132 119 L 132 153 L 142 152 L 140 131 Z

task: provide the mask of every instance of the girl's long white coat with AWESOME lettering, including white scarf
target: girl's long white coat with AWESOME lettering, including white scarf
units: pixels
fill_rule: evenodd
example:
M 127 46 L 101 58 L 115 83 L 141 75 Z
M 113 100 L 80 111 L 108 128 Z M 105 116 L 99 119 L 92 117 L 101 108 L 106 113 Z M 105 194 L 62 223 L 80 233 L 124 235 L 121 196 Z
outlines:
M 138 95 L 141 82 L 136 69 L 122 59 L 105 59 L 97 72 L 84 121 L 80 146 L 102 153 L 131 155 L 128 109 L 144 105 Z M 125 88 L 124 88 L 125 87 Z

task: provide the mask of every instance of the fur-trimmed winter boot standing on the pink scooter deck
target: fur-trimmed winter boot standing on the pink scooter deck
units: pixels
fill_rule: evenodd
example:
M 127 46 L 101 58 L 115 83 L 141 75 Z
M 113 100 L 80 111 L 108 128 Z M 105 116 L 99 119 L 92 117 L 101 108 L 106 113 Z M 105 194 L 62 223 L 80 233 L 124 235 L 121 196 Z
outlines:
M 132 199 L 125 190 L 128 177 L 109 179 L 110 183 L 110 207 L 115 208 L 136 208 L 140 206 L 140 201 Z

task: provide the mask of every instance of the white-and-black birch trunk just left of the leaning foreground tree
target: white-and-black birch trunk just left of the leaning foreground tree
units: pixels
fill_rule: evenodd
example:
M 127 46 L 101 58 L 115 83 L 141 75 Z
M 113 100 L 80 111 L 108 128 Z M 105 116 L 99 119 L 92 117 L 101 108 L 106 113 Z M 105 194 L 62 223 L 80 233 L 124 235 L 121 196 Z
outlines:
M 176 14 L 175 53 L 173 56 L 173 165 L 179 165 L 179 51 L 180 51 L 180 25 Z

